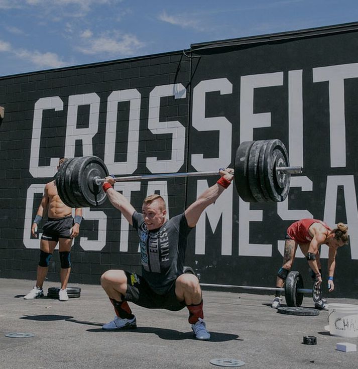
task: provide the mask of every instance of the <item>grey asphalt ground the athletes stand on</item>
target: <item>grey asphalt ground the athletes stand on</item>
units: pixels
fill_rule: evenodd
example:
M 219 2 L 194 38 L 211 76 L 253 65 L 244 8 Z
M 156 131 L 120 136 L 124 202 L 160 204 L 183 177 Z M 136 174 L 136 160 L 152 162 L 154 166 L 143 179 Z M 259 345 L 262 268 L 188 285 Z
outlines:
M 194 339 L 188 311 L 145 309 L 131 304 L 138 328 L 103 331 L 113 308 L 98 285 L 70 284 L 81 296 L 61 302 L 47 297 L 24 300 L 33 281 L 0 279 L 1 369 L 219 368 L 216 358 L 244 361 L 243 368 L 356 368 L 358 352 L 336 350 L 337 342 L 358 345 L 358 338 L 337 337 L 326 330 L 328 311 L 318 316 L 279 314 L 272 295 L 203 291 L 210 341 Z M 46 282 L 44 291 L 58 287 Z M 330 303 L 358 304 L 355 299 Z M 303 299 L 311 308 L 311 298 Z M 9 338 L 11 332 L 32 333 Z M 315 336 L 316 345 L 303 344 Z

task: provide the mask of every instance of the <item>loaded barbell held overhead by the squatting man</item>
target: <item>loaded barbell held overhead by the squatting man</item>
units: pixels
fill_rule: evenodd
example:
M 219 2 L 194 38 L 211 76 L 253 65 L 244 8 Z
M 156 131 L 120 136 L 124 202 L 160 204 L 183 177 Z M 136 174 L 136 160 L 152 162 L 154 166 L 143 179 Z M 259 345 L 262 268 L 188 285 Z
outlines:
M 243 142 L 234 158 L 234 180 L 238 195 L 246 202 L 279 202 L 290 189 L 290 175 L 302 173 L 302 167 L 291 167 L 287 150 L 280 140 Z M 57 192 L 69 207 L 99 206 L 106 194 L 102 189 L 109 175 L 97 156 L 71 158 L 56 175 Z M 115 182 L 178 177 L 219 175 L 216 172 L 163 173 L 115 177 Z

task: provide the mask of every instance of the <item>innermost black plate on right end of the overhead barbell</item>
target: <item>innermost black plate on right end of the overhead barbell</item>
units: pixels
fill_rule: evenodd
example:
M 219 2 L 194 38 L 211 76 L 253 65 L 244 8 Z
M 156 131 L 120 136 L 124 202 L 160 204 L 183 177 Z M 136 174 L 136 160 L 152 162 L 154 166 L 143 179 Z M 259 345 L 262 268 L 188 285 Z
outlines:
M 254 141 L 245 141 L 236 150 L 234 160 L 234 179 L 238 195 L 246 202 L 257 202 L 249 184 L 249 156 Z

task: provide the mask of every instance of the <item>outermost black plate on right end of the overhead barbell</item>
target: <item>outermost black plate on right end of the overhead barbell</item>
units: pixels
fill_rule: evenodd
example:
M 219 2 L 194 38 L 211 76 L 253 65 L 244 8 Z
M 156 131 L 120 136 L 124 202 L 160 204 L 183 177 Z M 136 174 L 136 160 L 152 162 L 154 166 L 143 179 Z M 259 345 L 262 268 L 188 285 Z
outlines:
M 276 167 L 288 167 L 288 154 L 280 140 L 269 140 L 264 158 L 264 180 L 272 201 L 285 200 L 290 190 L 290 173 L 276 172 Z

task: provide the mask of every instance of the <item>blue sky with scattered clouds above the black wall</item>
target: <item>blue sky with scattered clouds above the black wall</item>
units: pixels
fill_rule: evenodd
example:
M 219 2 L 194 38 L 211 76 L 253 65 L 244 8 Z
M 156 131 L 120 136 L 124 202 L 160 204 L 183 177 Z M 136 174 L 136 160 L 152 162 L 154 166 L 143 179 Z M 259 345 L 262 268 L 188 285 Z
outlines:
M 0 0 L 0 76 L 358 21 L 356 0 Z

